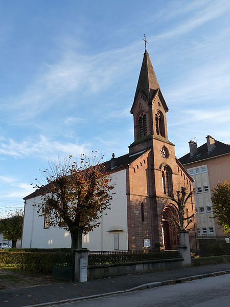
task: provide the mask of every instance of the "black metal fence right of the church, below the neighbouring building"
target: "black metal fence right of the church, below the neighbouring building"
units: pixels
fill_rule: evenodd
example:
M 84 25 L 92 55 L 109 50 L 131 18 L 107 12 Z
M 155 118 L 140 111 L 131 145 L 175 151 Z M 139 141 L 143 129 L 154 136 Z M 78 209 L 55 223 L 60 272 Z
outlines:
M 194 235 L 190 234 L 190 250 L 192 257 L 229 255 L 229 237 L 219 235 Z

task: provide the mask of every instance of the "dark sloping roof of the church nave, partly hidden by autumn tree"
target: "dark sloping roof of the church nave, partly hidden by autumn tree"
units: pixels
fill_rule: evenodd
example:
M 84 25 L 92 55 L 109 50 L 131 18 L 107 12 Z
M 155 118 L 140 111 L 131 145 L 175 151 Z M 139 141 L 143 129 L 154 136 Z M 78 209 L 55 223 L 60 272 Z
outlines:
M 137 158 L 141 157 L 143 155 L 143 153 L 146 152 L 146 151 L 148 151 L 148 149 L 134 153 L 133 155 L 130 155 L 129 153 L 127 153 L 124 156 L 114 158 L 114 163 L 113 163 L 114 166 L 112 168 L 111 168 L 111 160 L 106 161 L 103 164 L 105 165 L 106 171 L 120 170 L 121 168 L 126 167 L 127 165 L 129 165 L 130 163 L 135 161 Z M 37 189 L 36 191 L 34 191 L 31 194 L 29 194 L 28 196 L 26 196 L 24 198 L 24 200 L 34 198 L 34 197 L 40 195 L 41 193 L 45 192 L 46 190 L 48 190 L 48 188 L 49 188 L 49 184 L 41 187 L 40 189 Z

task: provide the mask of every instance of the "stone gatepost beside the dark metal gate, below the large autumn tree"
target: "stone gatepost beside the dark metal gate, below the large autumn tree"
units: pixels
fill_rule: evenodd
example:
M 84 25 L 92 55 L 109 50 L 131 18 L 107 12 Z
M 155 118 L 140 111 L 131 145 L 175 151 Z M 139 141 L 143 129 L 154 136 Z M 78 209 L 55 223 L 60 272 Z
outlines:
M 74 250 L 75 268 L 74 281 L 87 281 L 88 249 Z

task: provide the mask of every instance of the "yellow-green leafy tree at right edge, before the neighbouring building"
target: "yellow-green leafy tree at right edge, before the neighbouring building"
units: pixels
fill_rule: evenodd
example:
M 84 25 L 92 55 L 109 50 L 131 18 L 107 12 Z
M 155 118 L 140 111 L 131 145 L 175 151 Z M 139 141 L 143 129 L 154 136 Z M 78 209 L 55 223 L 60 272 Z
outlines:
M 226 180 L 218 183 L 212 192 L 213 213 L 217 224 L 224 232 L 230 232 L 230 183 Z

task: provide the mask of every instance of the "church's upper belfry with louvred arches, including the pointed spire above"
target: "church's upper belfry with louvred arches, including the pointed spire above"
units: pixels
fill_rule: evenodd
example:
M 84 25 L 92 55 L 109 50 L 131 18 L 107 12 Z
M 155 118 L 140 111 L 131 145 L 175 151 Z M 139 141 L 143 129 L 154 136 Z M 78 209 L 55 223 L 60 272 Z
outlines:
M 131 108 L 134 122 L 134 142 L 130 153 L 152 148 L 153 138 L 168 141 L 166 113 L 168 106 L 145 50 L 139 80 Z

